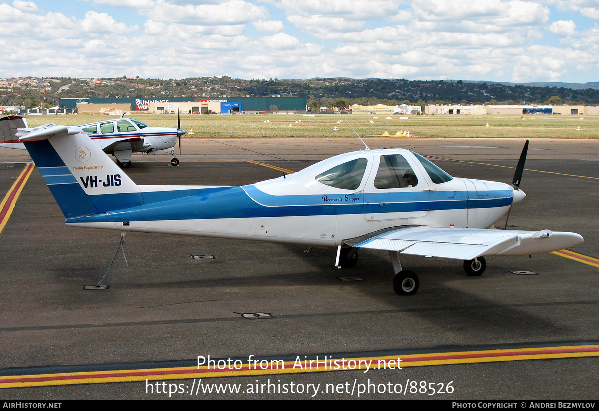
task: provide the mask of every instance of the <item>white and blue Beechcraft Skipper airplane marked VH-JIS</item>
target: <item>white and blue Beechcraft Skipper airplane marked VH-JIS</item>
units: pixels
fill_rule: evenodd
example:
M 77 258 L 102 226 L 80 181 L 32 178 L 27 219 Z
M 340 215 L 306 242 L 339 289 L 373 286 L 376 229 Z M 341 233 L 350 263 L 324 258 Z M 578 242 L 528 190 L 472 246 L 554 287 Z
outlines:
M 40 129 L 20 140 L 67 225 L 336 247 L 337 266 L 355 264 L 359 248 L 388 250 L 398 294 L 419 286 L 401 254 L 461 259 L 479 275 L 485 255 L 583 241 L 571 232 L 491 229 L 525 197 L 522 158 L 513 186 L 453 178 L 402 149 L 347 153 L 247 186 L 138 186 L 79 128 Z

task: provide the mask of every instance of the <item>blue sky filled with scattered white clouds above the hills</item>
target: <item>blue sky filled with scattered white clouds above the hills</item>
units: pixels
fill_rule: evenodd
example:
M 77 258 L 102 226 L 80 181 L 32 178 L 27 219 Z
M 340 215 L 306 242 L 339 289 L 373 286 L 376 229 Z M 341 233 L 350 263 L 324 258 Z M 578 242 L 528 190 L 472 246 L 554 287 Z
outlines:
M 599 81 L 598 0 L 0 0 L 0 77 Z

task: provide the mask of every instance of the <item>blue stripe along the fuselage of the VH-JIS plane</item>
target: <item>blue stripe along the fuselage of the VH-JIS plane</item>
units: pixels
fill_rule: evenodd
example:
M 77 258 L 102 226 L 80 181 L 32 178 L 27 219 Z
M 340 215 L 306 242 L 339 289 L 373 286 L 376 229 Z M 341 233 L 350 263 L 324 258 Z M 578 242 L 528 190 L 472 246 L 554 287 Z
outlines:
M 66 220 L 75 222 L 120 222 L 120 221 L 153 221 L 153 220 L 188 220 L 188 219 L 228 219 L 253 217 L 283 217 L 283 216 L 320 216 L 334 214 L 363 214 L 363 213 L 398 213 L 407 211 L 453 210 L 471 208 L 504 207 L 512 204 L 512 197 L 492 197 L 493 192 L 484 199 L 419 201 L 422 193 L 403 193 L 388 197 L 395 202 L 385 203 L 385 207 L 376 204 L 362 203 L 321 203 L 314 204 L 322 195 L 270 196 L 270 204 L 276 200 L 279 205 L 262 205 L 248 195 L 252 192 L 256 197 L 254 186 L 233 186 L 219 188 L 200 188 L 180 191 L 144 192 L 144 204 L 107 213 L 94 214 Z M 263 193 L 264 194 L 264 193 Z M 428 193 L 426 193 L 428 194 Z M 497 193 L 498 194 L 498 193 Z M 125 196 L 119 194 L 114 196 Z M 446 194 L 447 195 L 447 194 Z M 269 196 L 264 194 L 264 196 Z M 96 196 L 93 196 L 96 197 Z M 99 196 L 98 196 L 99 197 Z M 299 197 L 304 197 L 303 204 Z M 429 197 L 426 195 L 425 197 Z M 434 196 L 433 196 L 434 197 Z M 489 198 L 491 197 L 491 198 Z M 264 200 L 267 197 L 262 197 Z M 107 199 L 108 200 L 108 199 Z M 119 201 L 114 197 L 111 201 Z

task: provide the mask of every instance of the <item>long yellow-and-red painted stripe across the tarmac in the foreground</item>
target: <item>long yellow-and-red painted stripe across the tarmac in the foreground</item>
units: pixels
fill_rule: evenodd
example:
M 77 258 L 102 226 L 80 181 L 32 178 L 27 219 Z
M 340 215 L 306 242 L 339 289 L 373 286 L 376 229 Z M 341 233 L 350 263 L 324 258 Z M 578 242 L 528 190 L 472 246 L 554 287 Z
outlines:
M 310 364 L 310 359 L 315 360 L 316 356 L 298 355 L 295 360 L 277 362 L 276 359 L 264 359 L 265 368 L 260 368 L 261 358 L 253 357 L 255 362 L 248 364 L 247 359 L 238 359 L 237 368 L 232 361 L 231 365 L 226 364 L 225 359 L 221 359 L 223 368 L 218 370 L 214 365 L 208 369 L 207 366 L 200 367 L 190 365 L 187 367 L 163 367 L 163 368 L 125 368 L 116 370 L 90 370 L 64 373 L 46 373 L 46 374 L 24 374 L 24 375 L 5 375 L 0 376 L 0 388 L 16 388 L 25 386 L 47 386 L 47 385 L 73 385 L 73 384 L 91 384 L 107 382 L 132 382 L 147 380 L 174 380 L 174 379 L 193 379 L 208 377 L 239 377 L 249 375 L 267 375 L 267 374 L 291 374 L 291 373 L 310 373 L 322 371 L 344 371 L 343 368 L 334 370 L 327 368 L 323 364 L 326 356 L 329 364 L 334 366 L 334 361 L 338 360 L 341 367 L 345 370 L 365 370 L 367 363 L 370 370 L 383 368 L 380 364 L 394 364 L 393 369 L 398 366 L 420 367 L 423 365 L 449 365 L 449 364 L 468 364 L 477 362 L 497 362 L 497 361 L 519 361 L 526 359 L 553 359 L 553 358 L 577 358 L 588 356 L 599 356 L 599 344 L 570 345 L 570 346 L 552 346 L 552 347 L 524 347 L 509 349 L 475 350 L 475 351 L 456 351 L 456 352 L 435 352 L 435 353 L 416 353 L 402 355 L 400 352 L 394 355 L 384 356 L 356 356 L 339 358 L 331 357 L 325 354 L 319 355 L 320 366 L 312 365 L 311 369 L 299 367 L 301 364 Z M 289 358 L 289 357 L 288 357 Z M 298 359 L 299 358 L 299 359 Z M 398 364 L 397 359 L 401 358 Z M 214 359 L 217 364 L 219 359 Z M 308 361 L 305 363 L 304 361 Z M 333 361 L 333 362 L 330 362 Z M 370 362 L 372 361 L 372 362 Z M 390 362 L 391 361 L 391 362 Z M 193 362 L 193 361 L 190 361 Z M 352 367 L 353 364 L 353 367 Z M 135 364 L 132 364 L 135 365 Z M 96 365 L 96 367 L 98 367 Z M 68 368 L 68 367 L 61 367 Z M 81 369 L 81 366 L 77 366 Z M 373 371 L 369 371 L 373 372 Z M 376 371 L 374 371 L 376 372 Z

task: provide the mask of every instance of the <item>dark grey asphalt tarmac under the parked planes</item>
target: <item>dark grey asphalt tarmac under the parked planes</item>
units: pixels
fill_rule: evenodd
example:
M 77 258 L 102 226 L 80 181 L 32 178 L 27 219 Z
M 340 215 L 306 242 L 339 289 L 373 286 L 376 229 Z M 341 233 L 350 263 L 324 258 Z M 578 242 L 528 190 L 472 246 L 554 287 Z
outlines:
M 371 148 L 404 147 L 434 158 L 456 177 L 509 183 L 518 139 L 366 139 Z M 363 148 L 356 139 L 183 140 L 179 167 L 168 155 L 134 155 L 126 173 L 145 185 L 244 185 L 280 176 L 258 161 L 298 171 Z M 0 149 L 0 189 L 8 192 L 25 152 Z M 509 228 L 578 232 L 573 251 L 599 257 L 599 142 L 532 140 Z M 4 194 L 3 194 L 4 195 Z M 503 227 L 504 219 L 497 223 Z M 105 291 L 84 291 L 105 273 L 119 233 L 64 225 L 34 170 L 0 234 L 0 368 L 194 361 L 197 356 L 303 358 L 304 355 L 456 352 L 567 346 L 599 341 L 599 268 L 555 254 L 489 256 L 485 274 L 461 261 L 405 256 L 420 276 L 416 295 L 392 289 L 388 253 L 361 250 L 355 268 L 334 267 L 335 251 L 218 238 L 129 233 Z M 214 259 L 192 259 L 213 255 Z M 511 271 L 532 271 L 516 275 Z M 359 277 L 342 281 L 338 277 Z M 243 313 L 273 318 L 244 319 Z M 158 363 L 157 363 L 158 364 Z M 162 364 L 162 363 L 161 363 Z M 174 364 L 174 363 L 173 363 Z M 596 357 L 430 365 L 403 370 L 332 371 L 222 377 L 202 382 L 346 384 L 426 381 L 451 393 L 364 394 L 362 398 L 596 398 Z M 52 368 L 55 371 L 58 368 Z M 42 368 L 35 368 L 43 372 Z M 44 371 L 45 372 L 45 371 Z M 167 378 L 165 378 L 167 380 Z M 191 386 L 190 380 L 172 380 Z M 152 383 L 152 382 L 150 382 Z M 321 386 L 322 389 L 322 386 Z M 153 391 L 153 393 L 152 393 Z M 4 388 L 8 399 L 168 398 L 145 381 Z M 177 393 L 173 398 L 310 398 L 307 392 Z M 346 391 L 314 398 L 352 398 Z

